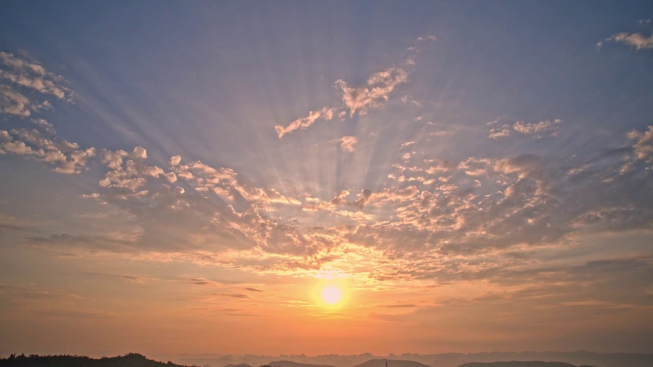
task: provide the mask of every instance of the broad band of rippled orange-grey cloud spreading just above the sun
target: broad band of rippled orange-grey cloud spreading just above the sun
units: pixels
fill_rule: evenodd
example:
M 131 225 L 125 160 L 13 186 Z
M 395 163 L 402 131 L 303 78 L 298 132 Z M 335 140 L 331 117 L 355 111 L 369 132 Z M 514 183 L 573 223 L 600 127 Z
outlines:
M 520 128 L 537 134 L 550 124 Z M 650 130 L 629 134 L 633 145 L 624 150 L 632 155 L 627 162 L 650 163 Z M 2 131 L 0 142 L 7 153 L 38 159 L 44 159 L 45 152 L 61 152 L 66 161 L 75 161 L 69 158 L 72 153 L 82 152 L 77 144 L 55 142 L 27 129 Z M 369 279 L 451 280 L 461 276 L 451 274 L 460 266 L 449 263 L 451 256 L 511 263 L 524 259 L 521 246 L 552 246 L 575 233 L 646 229 L 653 224 L 653 211 L 641 199 L 647 195 L 644 182 L 650 172 L 626 178 L 618 173 L 622 161 L 593 170 L 592 163 L 579 167 L 532 154 L 460 162 L 415 159 L 414 166 L 394 165 L 389 187 L 363 189 L 355 200 L 348 200 L 349 191 L 342 190 L 328 201 L 307 199 L 310 205 L 300 207 L 299 200 L 276 189 L 255 187 L 230 168 L 174 156 L 166 172 L 148 164 L 147 157 L 142 147 L 132 152 L 102 150 L 99 160 L 109 170 L 92 196 L 133 218 L 135 231 L 61 233 L 25 243 L 88 255 L 177 258 L 277 274 L 319 270 L 364 248 L 396 263 L 370 272 Z M 77 171 L 88 164 L 76 162 Z M 167 185 L 171 180 L 193 189 Z M 151 185 L 144 190 L 148 182 Z M 596 200 L 602 192 L 628 195 Z M 304 210 L 304 223 L 274 215 L 278 206 Z M 321 215 L 327 212 L 340 219 L 324 221 Z M 415 263 L 414 258 L 431 263 Z M 491 269 L 491 264 L 474 271 Z

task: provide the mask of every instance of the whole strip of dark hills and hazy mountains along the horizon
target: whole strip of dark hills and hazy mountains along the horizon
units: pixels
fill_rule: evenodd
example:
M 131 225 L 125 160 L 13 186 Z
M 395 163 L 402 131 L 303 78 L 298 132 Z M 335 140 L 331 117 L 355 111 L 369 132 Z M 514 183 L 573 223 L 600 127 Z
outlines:
M 10 355 L 0 359 L 0 367 L 185 367 L 189 365 L 204 367 L 259 367 L 271 365 L 274 367 L 653 367 L 653 354 L 643 353 L 591 353 L 578 352 L 522 352 L 522 353 L 445 353 L 439 355 L 408 355 L 398 358 L 389 355 L 388 358 L 372 358 L 369 353 L 364 355 L 321 355 L 307 357 L 306 355 L 283 356 L 283 360 L 267 362 L 270 357 L 255 355 L 219 356 L 202 355 L 202 358 L 193 358 L 184 355 L 179 358 L 163 358 L 163 360 L 176 360 L 176 363 L 167 363 L 148 359 L 138 353 L 129 353 L 119 357 L 103 357 L 93 359 L 84 356 L 71 355 Z M 7 357 L 5 355 L 5 357 Z M 409 357 L 409 359 L 406 359 Z M 534 358 L 539 357 L 539 358 Z M 158 359 L 161 359 L 159 356 Z M 221 361 L 234 361 L 245 359 L 248 361 L 231 363 L 225 366 Z M 364 360 L 361 360 L 364 359 Z M 265 360 L 265 362 L 262 362 Z M 331 360 L 333 363 L 310 363 Z M 432 360 L 432 363 L 424 363 Z M 511 362 L 503 362 L 510 360 Z M 192 361 L 192 362 L 191 362 Z M 200 362 L 201 361 L 201 362 Z M 215 363 L 218 362 L 218 363 Z M 340 363 L 343 362 L 343 363 Z M 344 363 L 347 362 L 347 363 Z M 184 366 L 185 365 L 185 366 Z

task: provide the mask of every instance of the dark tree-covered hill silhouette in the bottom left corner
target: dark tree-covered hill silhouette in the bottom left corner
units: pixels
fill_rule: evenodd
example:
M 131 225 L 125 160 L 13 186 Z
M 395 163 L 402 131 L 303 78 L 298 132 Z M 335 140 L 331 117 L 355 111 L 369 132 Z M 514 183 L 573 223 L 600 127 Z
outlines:
M 157 362 L 138 353 L 93 359 L 78 355 L 10 355 L 0 359 L 0 367 L 185 367 L 172 362 Z

